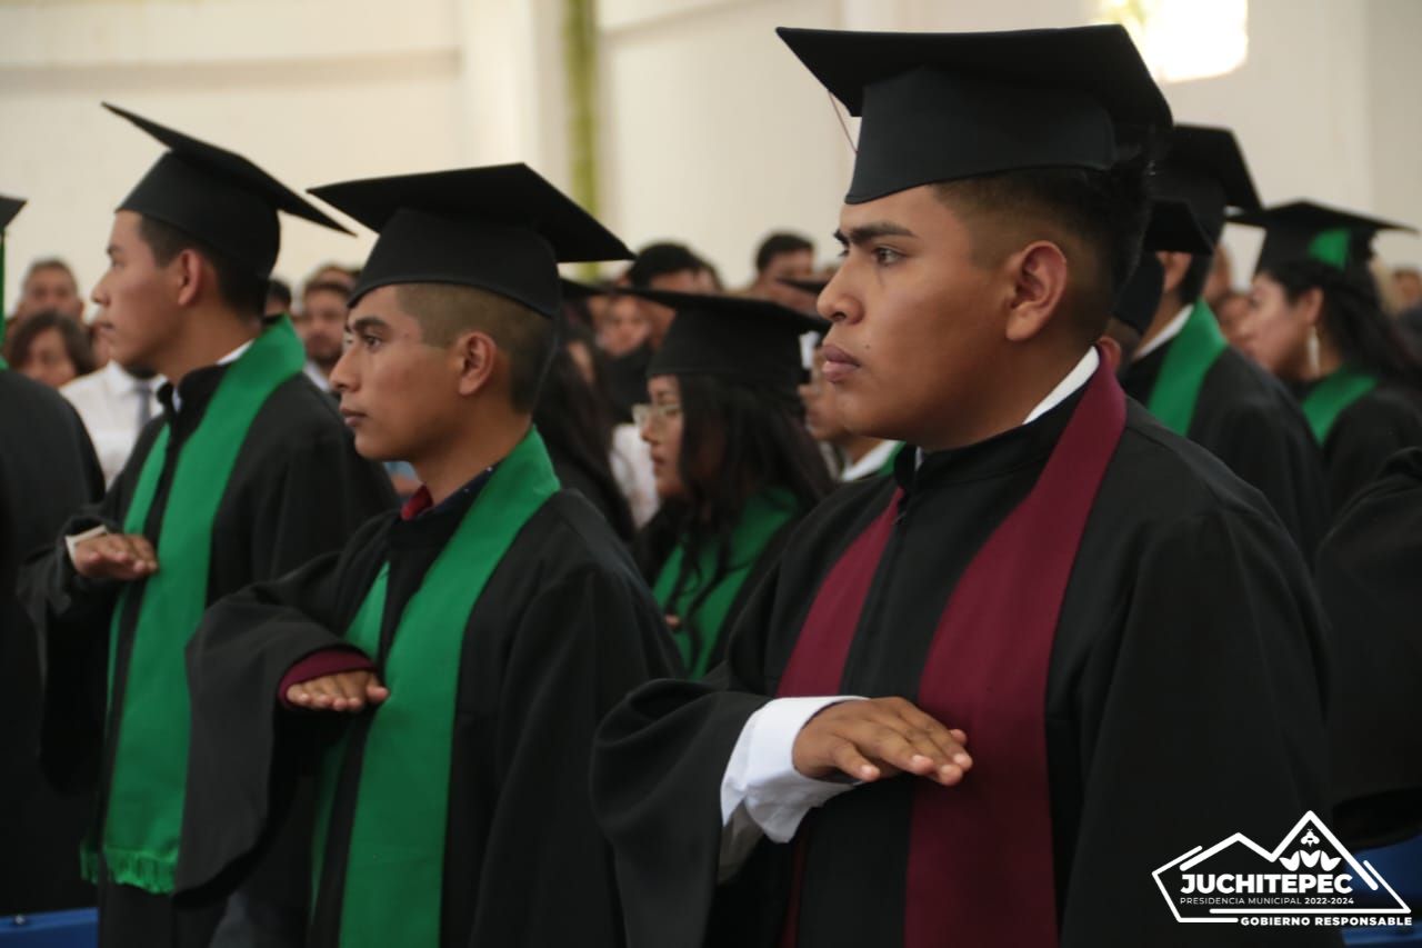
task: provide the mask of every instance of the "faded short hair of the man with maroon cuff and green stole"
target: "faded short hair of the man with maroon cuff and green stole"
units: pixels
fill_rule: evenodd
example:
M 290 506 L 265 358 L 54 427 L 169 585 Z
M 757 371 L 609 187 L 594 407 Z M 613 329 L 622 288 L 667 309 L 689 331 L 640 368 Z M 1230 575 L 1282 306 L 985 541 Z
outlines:
M 553 320 L 506 296 L 454 283 L 400 283 L 395 299 L 419 323 L 427 344 L 449 346 L 464 333 L 486 333 L 509 357 L 513 410 L 533 411 Z

